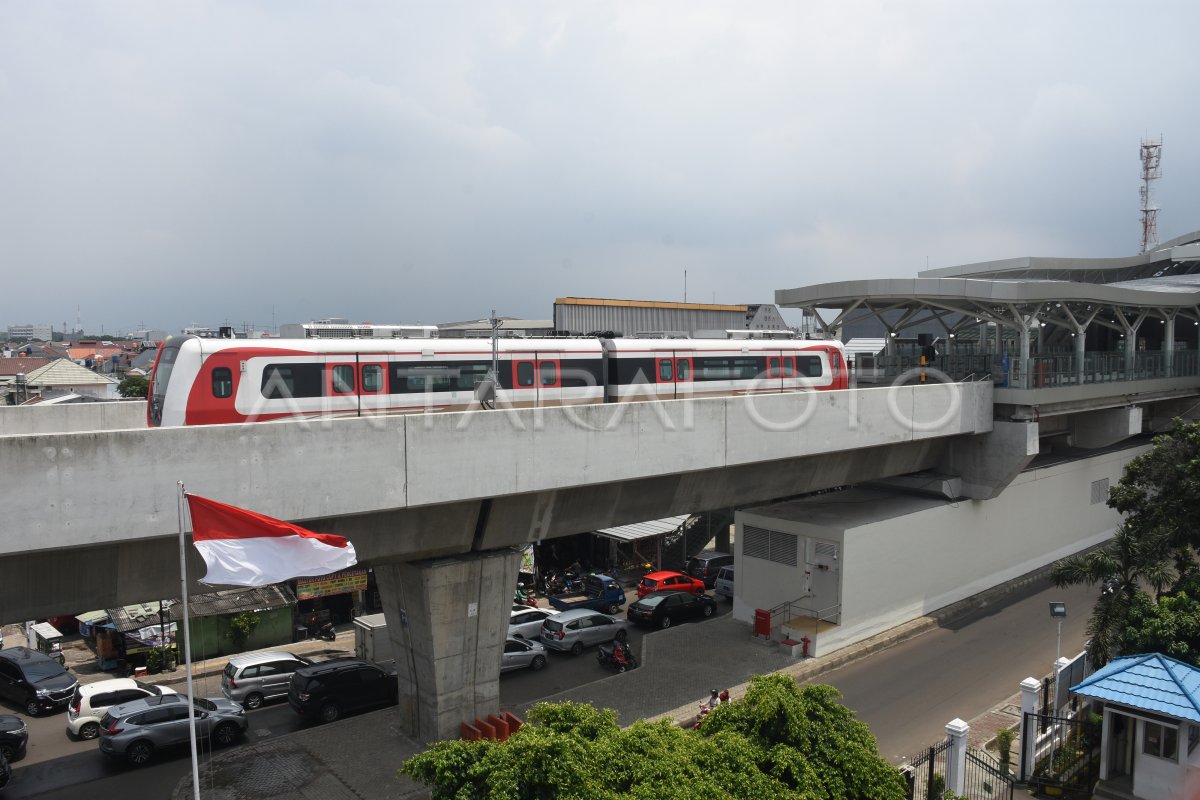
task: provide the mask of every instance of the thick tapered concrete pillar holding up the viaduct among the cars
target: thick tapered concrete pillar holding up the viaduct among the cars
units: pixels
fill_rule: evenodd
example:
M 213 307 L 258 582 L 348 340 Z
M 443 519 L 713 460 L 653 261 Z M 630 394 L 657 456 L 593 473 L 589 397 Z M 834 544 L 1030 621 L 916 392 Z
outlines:
M 454 739 L 500 706 L 500 658 L 521 553 L 470 553 L 374 567 L 396 654 L 401 732 Z

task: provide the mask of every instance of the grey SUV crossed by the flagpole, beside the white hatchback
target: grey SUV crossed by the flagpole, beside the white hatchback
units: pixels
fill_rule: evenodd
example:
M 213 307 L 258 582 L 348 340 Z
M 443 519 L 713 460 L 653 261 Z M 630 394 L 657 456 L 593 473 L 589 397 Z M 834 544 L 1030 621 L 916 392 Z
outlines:
M 142 766 L 160 750 L 188 744 L 191 716 L 198 740 L 222 746 L 250 726 L 241 704 L 223 697 L 197 697 L 194 706 L 182 694 L 145 697 L 108 709 L 100 721 L 100 752 Z

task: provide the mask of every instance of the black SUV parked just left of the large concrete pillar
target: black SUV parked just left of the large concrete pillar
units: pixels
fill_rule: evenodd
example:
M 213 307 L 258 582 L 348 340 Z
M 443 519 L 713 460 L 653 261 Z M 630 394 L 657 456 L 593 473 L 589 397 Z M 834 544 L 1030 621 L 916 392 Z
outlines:
M 395 669 L 370 661 L 336 658 L 292 673 L 288 704 L 310 720 L 332 722 L 346 711 L 392 705 L 400 696 Z

